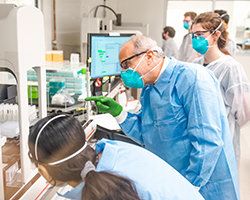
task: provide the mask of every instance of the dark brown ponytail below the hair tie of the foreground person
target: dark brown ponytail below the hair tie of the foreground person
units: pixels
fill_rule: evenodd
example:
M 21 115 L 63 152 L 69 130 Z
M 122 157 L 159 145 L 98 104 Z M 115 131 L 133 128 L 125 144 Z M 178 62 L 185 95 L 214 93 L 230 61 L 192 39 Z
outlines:
M 108 172 L 90 171 L 85 177 L 82 200 L 140 200 L 130 179 Z

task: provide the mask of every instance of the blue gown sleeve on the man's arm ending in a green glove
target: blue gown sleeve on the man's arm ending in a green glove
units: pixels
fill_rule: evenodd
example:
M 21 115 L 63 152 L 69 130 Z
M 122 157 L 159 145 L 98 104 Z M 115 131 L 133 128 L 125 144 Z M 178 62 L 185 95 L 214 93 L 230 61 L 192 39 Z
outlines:
M 120 124 L 120 127 L 127 136 L 138 144 L 144 145 L 141 131 L 141 114 L 141 109 L 134 114 L 128 112 L 126 120 Z

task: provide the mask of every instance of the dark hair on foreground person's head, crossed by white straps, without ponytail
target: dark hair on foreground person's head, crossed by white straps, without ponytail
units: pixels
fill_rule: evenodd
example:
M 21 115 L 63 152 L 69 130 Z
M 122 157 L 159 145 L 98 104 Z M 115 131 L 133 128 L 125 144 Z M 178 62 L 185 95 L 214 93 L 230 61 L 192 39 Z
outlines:
M 85 133 L 80 122 L 65 115 L 51 121 L 41 132 L 37 143 L 37 156 L 35 158 L 35 141 L 37 134 L 50 119 L 57 116 L 51 115 L 38 121 L 29 134 L 29 157 L 35 164 L 43 165 L 52 179 L 56 182 L 81 181 L 81 170 L 90 160 L 95 163 L 96 153 L 87 146 L 84 151 L 75 157 L 57 165 L 48 165 L 66 158 L 77 152 L 85 144 Z

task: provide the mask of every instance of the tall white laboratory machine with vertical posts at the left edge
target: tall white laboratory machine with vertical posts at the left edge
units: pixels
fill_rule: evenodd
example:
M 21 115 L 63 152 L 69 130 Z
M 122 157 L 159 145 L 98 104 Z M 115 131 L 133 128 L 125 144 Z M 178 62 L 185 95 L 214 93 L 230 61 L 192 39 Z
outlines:
M 25 185 L 34 176 L 34 170 L 28 158 L 28 95 L 27 70 L 33 68 L 38 75 L 39 86 L 39 117 L 45 117 L 46 111 L 46 80 L 45 80 L 45 43 L 44 22 L 40 10 L 32 6 L 16 7 L 13 4 L 0 4 L 0 71 L 12 74 L 17 83 L 17 102 L 20 151 L 20 186 Z M 8 83 L 7 83 L 8 84 Z M 4 147 L 3 147 L 4 148 Z M 4 152 L 3 152 L 4 153 Z M 19 162 L 19 161 L 18 161 Z M 15 163 L 13 163 L 15 164 Z M 10 166 L 11 167 L 11 166 Z M 16 164 L 7 174 L 13 174 Z M 0 169 L 2 171 L 2 168 Z M 12 178 L 12 177 L 10 177 Z M 11 179 L 8 179 L 11 180 Z M 1 180 L 1 182 L 5 182 Z M 6 186 L 6 185 L 5 185 Z M 16 187 L 16 189 L 20 188 Z M 6 196 L 4 191 L 0 199 L 10 199 L 13 192 Z M 32 197 L 31 197 L 32 198 Z

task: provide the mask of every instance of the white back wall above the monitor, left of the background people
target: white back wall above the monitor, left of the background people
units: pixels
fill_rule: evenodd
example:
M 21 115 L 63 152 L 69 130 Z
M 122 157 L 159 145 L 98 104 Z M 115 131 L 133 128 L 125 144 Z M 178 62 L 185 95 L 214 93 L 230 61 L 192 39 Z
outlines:
M 107 0 L 106 5 L 116 13 L 122 14 L 122 22 L 149 23 L 149 35 L 161 46 L 161 32 L 165 21 L 165 0 Z M 103 0 L 60 0 L 56 1 L 56 25 L 58 49 L 64 50 L 64 58 L 70 53 L 80 52 L 81 18 L 94 16 L 94 8 L 103 4 Z M 46 49 L 51 49 L 53 39 L 52 1 L 43 0 L 42 10 L 45 18 Z M 97 17 L 103 17 L 103 8 L 99 8 Z M 106 18 L 115 19 L 106 9 Z

